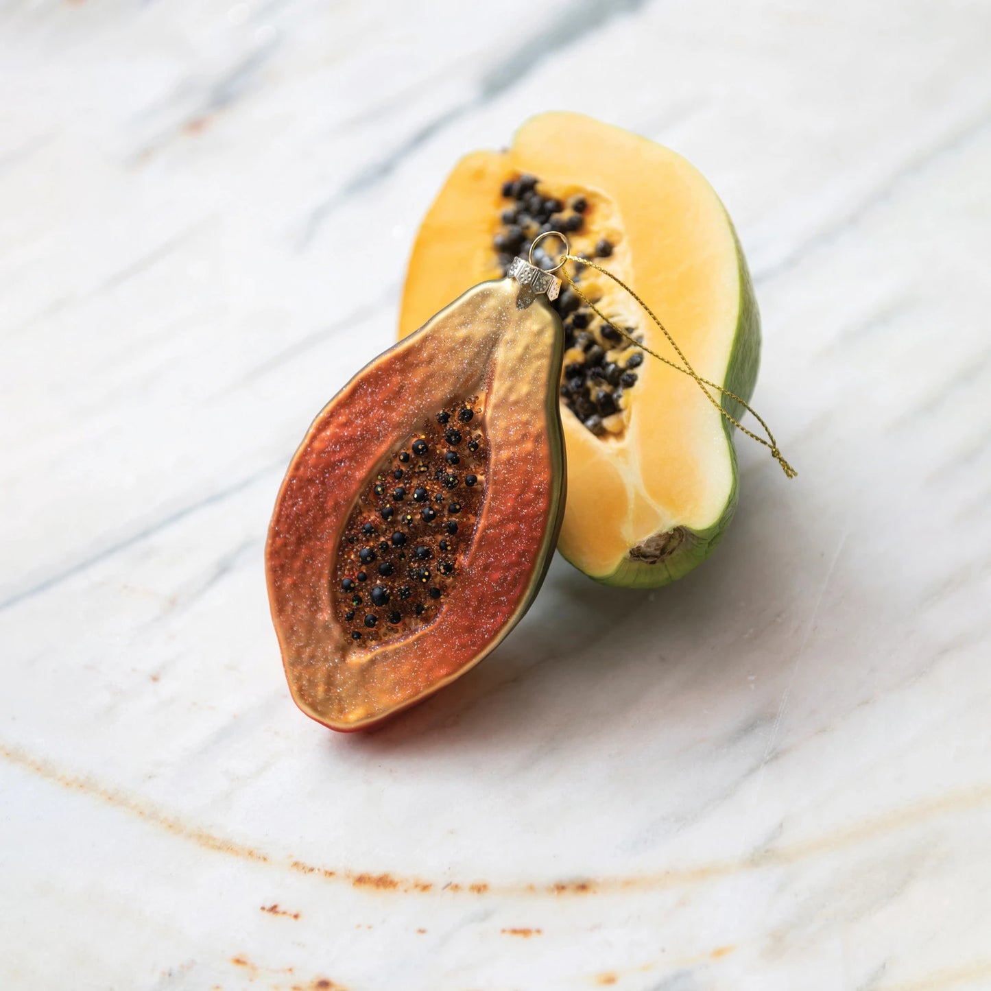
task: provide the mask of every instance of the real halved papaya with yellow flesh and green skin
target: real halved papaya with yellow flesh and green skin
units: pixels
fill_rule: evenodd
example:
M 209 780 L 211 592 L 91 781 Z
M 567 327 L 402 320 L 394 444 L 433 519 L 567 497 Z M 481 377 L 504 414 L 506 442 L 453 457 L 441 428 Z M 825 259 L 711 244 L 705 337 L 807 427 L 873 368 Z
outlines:
M 760 320 L 716 193 L 674 152 L 579 114 L 534 117 L 507 151 L 476 152 L 455 166 L 416 238 L 400 338 L 549 230 L 633 286 L 700 376 L 749 400 Z M 538 247 L 535 260 L 546 267 L 540 254 Z M 576 284 L 609 322 L 677 361 L 606 276 L 587 267 Z M 732 428 L 690 376 L 645 356 L 575 292 L 554 305 L 567 346 L 560 401 L 568 504 L 558 548 L 608 585 L 665 585 L 709 555 L 732 517 Z M 738 402 L 716 398 L 739 417 Z

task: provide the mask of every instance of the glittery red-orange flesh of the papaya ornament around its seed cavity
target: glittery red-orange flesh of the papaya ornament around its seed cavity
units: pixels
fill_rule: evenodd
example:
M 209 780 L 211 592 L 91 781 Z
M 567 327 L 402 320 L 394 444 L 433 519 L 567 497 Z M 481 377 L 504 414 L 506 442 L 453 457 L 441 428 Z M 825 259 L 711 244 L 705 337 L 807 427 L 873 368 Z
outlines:
M 289 465 L 266 552 L 270 603 L 292 697 L 333 729 L 367 728 L 467 671 L 539 588 L 564 501 L 562 332 L 542 297 L 517 309 L 517 290 L 511 279 L 470 289 L 366 366 Z M 437 410 L 473 396 L 483 498 L 455 578 L 425 624 L 356 642 L 332 598 L 356 500 Z

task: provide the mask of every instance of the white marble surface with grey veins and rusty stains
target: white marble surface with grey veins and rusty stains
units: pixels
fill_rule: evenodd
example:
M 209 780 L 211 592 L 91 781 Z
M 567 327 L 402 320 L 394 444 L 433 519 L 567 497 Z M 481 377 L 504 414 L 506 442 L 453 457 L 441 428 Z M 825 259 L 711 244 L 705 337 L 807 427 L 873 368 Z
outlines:
M 991 987 L 991 6 L 0 8 L 0 987 Z M 380 732 L 262 550 L 463 151 L 699 165 L 764 316 L 716 558 L 555 562 Z

